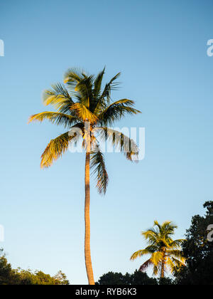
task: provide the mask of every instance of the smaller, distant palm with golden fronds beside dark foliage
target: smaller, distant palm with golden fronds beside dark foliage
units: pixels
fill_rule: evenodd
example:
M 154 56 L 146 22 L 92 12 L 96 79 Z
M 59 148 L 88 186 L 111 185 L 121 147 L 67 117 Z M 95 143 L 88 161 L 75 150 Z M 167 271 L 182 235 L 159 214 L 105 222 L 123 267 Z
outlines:
M 154 221 L 153 228 L 141 233 L 148 241 L 148 246 L 133 253 L 131 260 L 146 254 L 151 254 L 151 258 L 143 263 L 139 271 L 146 271 L 149 266 L 152 266 L 153 275 L 159 273 L 160 277 L 164 278 L 165 271 L 174 274 L 180 266 L 185 265 L 185 258 L 181 251 L 181 244 L 185 240 L 173 240 L 172 238 L 177 228 L 178 226 L 175 226 L 171 221 L 165 221 L 162 225 L 158 221 Z

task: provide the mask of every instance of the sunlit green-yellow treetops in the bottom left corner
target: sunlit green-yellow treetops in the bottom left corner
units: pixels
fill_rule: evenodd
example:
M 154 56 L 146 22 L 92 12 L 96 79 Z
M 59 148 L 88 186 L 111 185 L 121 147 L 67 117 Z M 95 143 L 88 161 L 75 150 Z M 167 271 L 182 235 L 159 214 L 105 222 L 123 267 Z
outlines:
M 42 271 L 12 269 L 8 263 L 3 250 L 0 251 L 0 285 L 69 285 L 65 274 L 59 271 L 56 276 L 51 277 Z

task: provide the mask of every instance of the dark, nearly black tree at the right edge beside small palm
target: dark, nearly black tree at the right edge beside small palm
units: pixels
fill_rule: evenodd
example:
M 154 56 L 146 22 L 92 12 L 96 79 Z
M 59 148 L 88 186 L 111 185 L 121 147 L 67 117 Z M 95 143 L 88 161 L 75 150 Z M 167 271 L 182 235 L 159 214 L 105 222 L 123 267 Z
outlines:
M 213 242 L 207 241 L 207 227 L 213 224 L 213 201 L 204 204 L 207 213 L 192 217 L 182 250 L 187 267 L 176 274 L 182 285 L 213 285 Z

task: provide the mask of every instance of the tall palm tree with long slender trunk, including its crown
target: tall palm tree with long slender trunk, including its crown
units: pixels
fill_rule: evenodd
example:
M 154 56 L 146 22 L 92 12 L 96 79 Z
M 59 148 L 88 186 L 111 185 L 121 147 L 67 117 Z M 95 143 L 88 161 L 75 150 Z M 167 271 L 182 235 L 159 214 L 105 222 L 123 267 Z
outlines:
M 29 119 L 29 122 L 50 120 L 53 124 L 63 125 L 68 129 L 67 132 L 50 141 L 41 156 L 41 168 L 50 167 L 67 151 L 70 143 L 75 144 L 77 140 L 82 140 L 82 147 L 86 153 L 84 256 L 90 285 L 94 285 L 90 253 L 90 169 L 93 169 L 96 175 L 97 189 L 100 194 L 105 194 L 109 180 L 99 141 L 109 140 L 114 147 L 119 147 L 130 161 L 134 161 L 138 155 L 138 147 L 133 140 L 108 126 L 126 114 L 136 115 L 140 111 L 133 107 L 133 100 L 122 99 L 114 103 L 111 101 L 111 91 L 118 87 L 119 83 L 116 79 L 119 78 L 120 73 L 102 88 L 104 73 L 105 68 L 96 76 L 76 68 L 67 70 L 65 85 L 60 83 L 52 85 L 52 89 L 45 90 L 43 96 L 44 105 L 53 105 L 56 112 L 41 112 L 32 115 Z

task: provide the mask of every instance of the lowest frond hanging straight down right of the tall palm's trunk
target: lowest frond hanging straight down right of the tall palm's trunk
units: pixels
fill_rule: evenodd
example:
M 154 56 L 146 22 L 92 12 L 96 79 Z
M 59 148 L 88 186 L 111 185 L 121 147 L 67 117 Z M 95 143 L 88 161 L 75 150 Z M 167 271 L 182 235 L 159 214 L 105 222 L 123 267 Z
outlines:
M 107 169 L 104 161 L 104 154 L 102 154 L 98 146 L 90 154 L 91 154 L 90 166 L 93 169 L 92 174 L 96 175 L 97 189 L 100 194 L 102 193 L 105 194 L 107 191 L 107 184 L 109 182 L 109 177 L 107 174 Z

